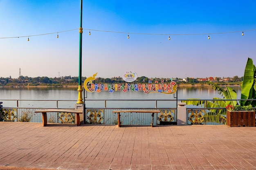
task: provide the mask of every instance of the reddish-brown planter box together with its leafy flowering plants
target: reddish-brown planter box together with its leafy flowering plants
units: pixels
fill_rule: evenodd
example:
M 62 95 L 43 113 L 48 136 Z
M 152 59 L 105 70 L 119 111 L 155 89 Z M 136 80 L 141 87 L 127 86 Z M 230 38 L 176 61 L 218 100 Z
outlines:
M 255 126 L 255 111 L 252 105 L 227 105 L 227 125 L 230 127 Z

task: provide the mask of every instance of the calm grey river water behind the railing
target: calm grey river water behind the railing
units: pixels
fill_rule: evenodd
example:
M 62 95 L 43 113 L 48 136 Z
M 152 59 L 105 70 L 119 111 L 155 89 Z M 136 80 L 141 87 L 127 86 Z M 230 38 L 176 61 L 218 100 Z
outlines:
M 225 88 L 225 87 L 223 87 Z M 241 88 L 240 86 L 232 86 L 236 91 L 237 98 L 240 98 Z M 178 86 L 177 94 L 166 95 L 161 93 L 145 94 L 144 92 L 116 92 L 109 93 L 102 91 L 100 93 L 87 93 L 87 99 L 212 99 L 213 97 L 223 98 L 209 86 Z M 63 108 L 74 108 L 76 100 L 78 98 L 77 88 L 0 88 L 0 101 L 3 102 L 3 106 L 12 107 L 16 106 L 16 101 L 4 101 L 1 99 L 37 99 L 37 100 L 75 100 L 74 102 L 59 102 L 58 107 Z M 121 107 L 125 103 L 126 106 L 130 107 L 148 107 L 155 105 L 155 102 L 108 102 L 108 107 Z M 31 102 L 31 101 L 20 101 L 20 107 L 56 107 L 56 102 Z M 104 102 L 85 102 L 86 107 L 94 107 L 98 105 L 104 105 Z M 46 106 L 45 106 L 46 105 Z M 171 104 L 173 105 L 173 104 Z M 168 102 L 159 102 L 158 107 L 170 107 Z

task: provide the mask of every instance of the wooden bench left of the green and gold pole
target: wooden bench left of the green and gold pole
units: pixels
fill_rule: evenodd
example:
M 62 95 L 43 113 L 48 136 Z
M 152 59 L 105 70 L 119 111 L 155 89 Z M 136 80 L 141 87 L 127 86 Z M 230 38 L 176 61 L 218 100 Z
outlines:
M 75 113 L 76 114 L 76 126 L 80 125 L 79 114 L 83 113 L 83 109 L 43 109 L 36 110 L 35 113 L 42 113 L 43 126 L 47 125 L 47 113 L 48 112 L 58 112 L 58 113 Z

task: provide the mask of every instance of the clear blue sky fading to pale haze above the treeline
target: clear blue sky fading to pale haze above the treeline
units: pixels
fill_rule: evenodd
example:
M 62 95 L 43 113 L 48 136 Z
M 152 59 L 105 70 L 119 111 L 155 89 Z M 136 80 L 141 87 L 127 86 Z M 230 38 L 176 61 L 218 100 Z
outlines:
M 242 77 L 248 57 L 256 65 L 255 9 L 255 0 L 83 0 L 82 76 Z M 0 0 L 0 77 L 78 76 L 79 27 L 80 0 Z

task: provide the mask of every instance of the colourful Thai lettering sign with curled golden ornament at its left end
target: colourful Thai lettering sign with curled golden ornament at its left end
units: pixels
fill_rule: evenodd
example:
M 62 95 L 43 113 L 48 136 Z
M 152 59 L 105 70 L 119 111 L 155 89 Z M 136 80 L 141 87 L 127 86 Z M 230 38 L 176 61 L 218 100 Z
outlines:
M 177 84 L 175 82 L 164 83 L 162 79 L 161 82 L 155 81 L 152 83 L 149 81 L 146 84 L 141 83 L 118 83 L 118 84 L 110 84 L 110 83 L 103 83 L 103 84 L 93 84 L 92 81 L 95 80 L 97 73 L 93 76 L 88 77 L 85 79 L 84 88 L 85 91 L 88 92 L 101 92 L 101 91 L 108 91 L 113 93 L 114 91 L 122 91 L 122 92 L 130 92 L 130 91 L 144 91 L 144 93 L 164 93 L 164 94 L 174 94 L 177 92 Z

